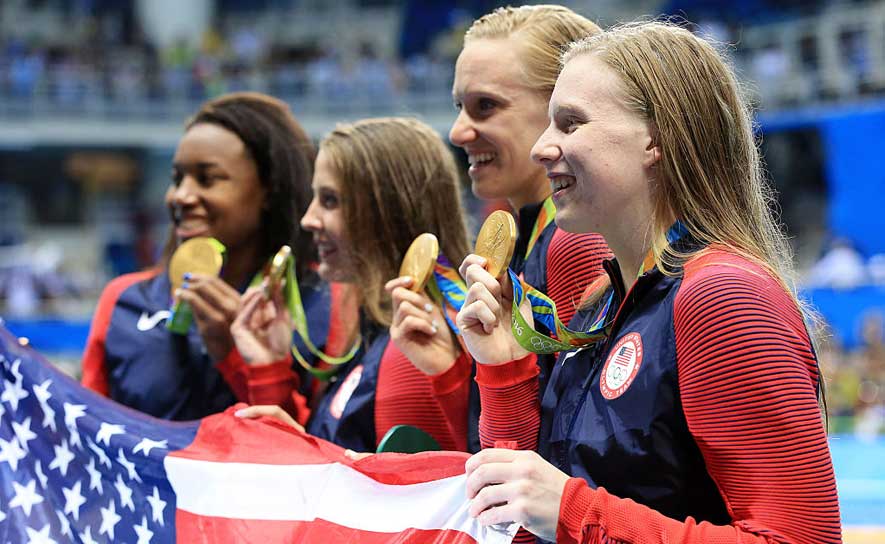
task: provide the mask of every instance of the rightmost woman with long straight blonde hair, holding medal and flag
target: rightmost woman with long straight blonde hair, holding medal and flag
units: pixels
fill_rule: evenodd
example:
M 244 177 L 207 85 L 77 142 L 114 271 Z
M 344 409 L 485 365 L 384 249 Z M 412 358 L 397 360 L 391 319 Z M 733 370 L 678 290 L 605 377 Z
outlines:
M 565 53 L 549 113 L 532 156 L 556 221 L 615 255 L 573 323 L 613 319 L 539 391 L 507 291 L 465 259 L 481 432 L 538 433 L 468 461 L 471 514 L 557 542 L 840 542 L 817 359 L 730 66 L 678 26 L 617 27 Z

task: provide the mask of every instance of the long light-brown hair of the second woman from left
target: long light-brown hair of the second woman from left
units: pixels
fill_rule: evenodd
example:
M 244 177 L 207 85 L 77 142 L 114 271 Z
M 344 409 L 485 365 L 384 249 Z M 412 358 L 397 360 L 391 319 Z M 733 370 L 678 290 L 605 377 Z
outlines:
M 437 236 L 453 263 L 467 256 L 467 229 L 451 151 L 426 124 L 402 117 L 338 125 L 320 144 L 341 182 L 341 211 L 356 285 L 369 317 L 389 326 L 395 278 L 416 236 Z

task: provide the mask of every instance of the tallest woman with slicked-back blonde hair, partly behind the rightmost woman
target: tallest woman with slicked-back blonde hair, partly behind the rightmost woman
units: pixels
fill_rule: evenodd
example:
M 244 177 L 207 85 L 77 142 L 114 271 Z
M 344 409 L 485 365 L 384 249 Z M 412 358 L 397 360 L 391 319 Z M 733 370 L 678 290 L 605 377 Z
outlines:
M 498 8 L 467 30 L 452 85 L 458 116 L 449 140 L 467 153 L 473 193 L 485 200 L 505 199 L 513 208 L 519 229 L 510 268 L 550 297 L 563 323 L 574 315 L 585 288 L 602 274 L 602 260 L 611 252 L 598 234 L 557 227 L 552 185 L 532 162 L 531 147 L 547 126 L 562 51 L 598 32 L 595 23 L 563 6 Z M 552 332 L 540 323 L 536 328 Z M 552 356 L 538 359 L 542 384 L 553 362 Z M 476 419 L 479 405 L 476 396 L 472 399 Z M 473 448 L 493 444 L 475 434 Z M 527 440 L 528 434 L 517 440 Z

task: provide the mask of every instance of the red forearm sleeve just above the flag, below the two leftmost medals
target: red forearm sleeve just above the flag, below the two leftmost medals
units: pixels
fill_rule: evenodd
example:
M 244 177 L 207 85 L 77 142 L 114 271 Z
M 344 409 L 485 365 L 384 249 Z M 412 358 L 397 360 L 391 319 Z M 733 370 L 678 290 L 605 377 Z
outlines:
M 310 417 L 307 398 L 299 392 L 301 378 L 292 370 L 292 359 L 269 365 L 249 365 L 234 348 L 215 368 L 224 377 L 237 400 L 248 404 L 271 404 L 281 407 L 298 423 Z

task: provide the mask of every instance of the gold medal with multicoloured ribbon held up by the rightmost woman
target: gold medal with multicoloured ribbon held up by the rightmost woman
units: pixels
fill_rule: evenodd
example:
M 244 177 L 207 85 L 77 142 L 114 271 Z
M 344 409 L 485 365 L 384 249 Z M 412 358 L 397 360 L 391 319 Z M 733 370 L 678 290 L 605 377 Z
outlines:
M 531 238 L 526 248 L 526 258 L 535 248 L 544 229 L 553 222 L 555 215 L 556 207 L 553 205 L 553 201 L 548 198 L 544 201 L 532 228 Z M 559 319 L 556 304 L 507 268 L 510 262 L 509 257 L 502 262 L 504 256 L 513 254 L 515 247 L 516 222 L 509 213 L 498 211 L 490 215 L 480 229 L 474 252 L 485 257 L 487 269 L 493 276 L 500 277 L 504 271 L 510 275 L 510 282 L 513 286 L 511 330 L 520 346 L 533 353 L 556 353 L 598 342 L 608 335 L 614 318 L 614 312 L 611 311 L 611 296 L 589 330 L 569 329 Z M 538 332 L 525 320 L 519 311 L 519 306 L 526 298 L 531 304 L 535 321 L 542 323 L 547 330 L 554 332 L 556 338 Z

